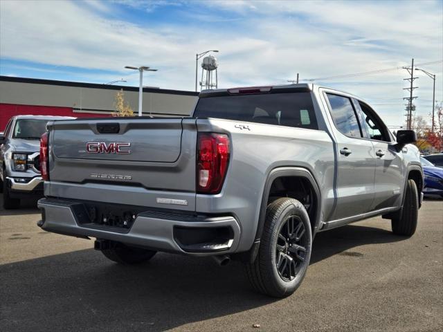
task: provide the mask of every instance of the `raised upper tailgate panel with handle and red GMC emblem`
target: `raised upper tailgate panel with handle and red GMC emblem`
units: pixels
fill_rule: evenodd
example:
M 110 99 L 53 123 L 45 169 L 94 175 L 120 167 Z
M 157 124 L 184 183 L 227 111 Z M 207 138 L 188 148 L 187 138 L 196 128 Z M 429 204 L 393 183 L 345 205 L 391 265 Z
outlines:
M 180 156 L 181 119 L 79 120 L 59 122 L 53 128 L 57 158 L 174 163 Z M 116 151 L 121 143 L 126 146 Z

